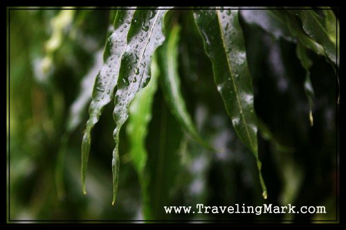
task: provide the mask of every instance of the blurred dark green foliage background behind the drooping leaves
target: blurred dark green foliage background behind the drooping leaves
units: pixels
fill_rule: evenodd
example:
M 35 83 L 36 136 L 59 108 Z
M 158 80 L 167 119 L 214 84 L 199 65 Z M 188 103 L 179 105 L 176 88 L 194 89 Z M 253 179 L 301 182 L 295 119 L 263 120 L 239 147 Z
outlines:
M 204 148 L 188 135 L 170 109 L 172 101 L 163 96 L 165 87 L 161 85 L 165 82 L 158 80 L 156 92 L 152 89 L 147 136 L 140 134 L 145 138 L 147 163 L 143 169 L 138 162 L 131 162 L 140 161 L 134 153 L 138 142 L 131 139 L 134 131 L 131 125 L 127 127 L 131 119 L 140 116 L 131 118 L 131 111 L 146 110 L 130 108 L 129 121 L 119 135 L 118 198 L 116 206 L 111 206 L 113 103 L 104 107 L 92 132 L 87 195 L 83 195 L 80 182 L 80 143 L 115 12 L 98 8 L 9 10 L 10 220 L 335 219 L 337 67 L 313 48 L 304 50 L 311 65 L 303 67 L 294 38 L 286 39 L 290 28 L 270 33 L 271 28 L 246 19 L 251 11 L 260 12 L 240 10 L 239 23 L 253 80 L 258 154 L 268 199 L 261 195 L 256 160 L 237 137 L 217 91 L 192 11 L 170 10 L 167 20 L 173 22 L 167 30 L 180 26 L 176 74 L 181 97 L 201 138 L 222 151 Z M 329 12 L 326 15 L 331 17 Z M 260 21 L 260 16 L 253 20 Z M 158 78 L 163 78 L 163 73 L 161 69 Z M 304 91 L 306 76 L 311 78 L 313 105 Z M 145 190 L 143 178 L 147 179 Z M 325 205 L 327 214 L 167 215 L 163 211 L 168 205 L 236 203 Z

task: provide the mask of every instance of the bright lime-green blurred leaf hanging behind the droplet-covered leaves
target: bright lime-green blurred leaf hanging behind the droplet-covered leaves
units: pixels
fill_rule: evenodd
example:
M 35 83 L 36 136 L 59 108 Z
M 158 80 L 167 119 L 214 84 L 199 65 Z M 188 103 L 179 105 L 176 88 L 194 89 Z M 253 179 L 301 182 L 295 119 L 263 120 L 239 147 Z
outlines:
M 137 171 L 140 188 L 142 191 L 143 214 L 146 219 L 150 216 L 149 195 L 147 191 L 148 180 L 145 172 L 147 163 L 147 150 L 145 138 L 147 136 L 149 121 L 152 119 L 152 103 L 158 82 L 158 66 L 155 56 L 152 60 L 152 78 L 143 90 L 139 91 L 129 107 L 129 123 L 127 135 L 131 146 L 130 157 Z

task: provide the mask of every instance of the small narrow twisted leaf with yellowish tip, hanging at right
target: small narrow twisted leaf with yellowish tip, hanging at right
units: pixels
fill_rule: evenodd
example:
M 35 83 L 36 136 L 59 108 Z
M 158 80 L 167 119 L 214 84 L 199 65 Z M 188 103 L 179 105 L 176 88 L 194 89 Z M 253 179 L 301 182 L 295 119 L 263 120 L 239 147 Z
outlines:
M 312 107 L 313 107 L 313 98 L 315 96 L 315 93 L 313 92 L 313 87 L 310 80 L 310 68 L 312 66 L 312 61 L 310 60 L 309 56 L 307 55 L 307 50 L 298 42 L 297 44 L 297 57 L 300 60 L 300 63 L 302 64 L 302 67 L 305 69 L 305 81 L 304 81 L 304 89 L 305 94 L 307 95 L 307 98 L 309 100 L 309 119 L 310 119 L 310 125 L 313 125 L 313 116 L 312 116 Z

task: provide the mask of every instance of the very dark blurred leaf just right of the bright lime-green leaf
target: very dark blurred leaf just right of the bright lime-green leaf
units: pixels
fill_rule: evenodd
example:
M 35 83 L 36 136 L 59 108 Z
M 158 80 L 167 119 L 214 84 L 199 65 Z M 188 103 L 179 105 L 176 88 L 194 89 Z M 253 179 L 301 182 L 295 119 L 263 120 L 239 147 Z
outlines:
M 184 134 L 179 122 L 170 113 L 161 91 L 155 97 L 153 108 L 147 137 L 148 161 L 145 166 L 149 200 L 144 211 L 147 220 L 169 220 L 171 217 L 165 214 L 163 206 L 174 205 L 172 199 L 182 170 L 179 153 Z

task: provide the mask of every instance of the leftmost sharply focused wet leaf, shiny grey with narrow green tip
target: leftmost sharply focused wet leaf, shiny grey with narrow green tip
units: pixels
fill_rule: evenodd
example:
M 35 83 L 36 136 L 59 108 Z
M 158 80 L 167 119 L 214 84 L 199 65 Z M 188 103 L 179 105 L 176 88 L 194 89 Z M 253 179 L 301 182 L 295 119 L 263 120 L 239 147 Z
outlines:
M 81 177 L 84 194 L 86 194 L 85 178 L 91 143 L 91 130 L 98 122 L 104 106 L 111 101 L 113 96 L 113 89 L 116 87 L 118 80 L 120 58 L 127 45 L 126 37 L 129 31 L 129 23 L 127 21 L 131 21 L 133 15 L 134 10 L 118 10 L 114 21 L 115 30 L 107 39 L 104 48 L 104 65 L 100 69 L 98 76 L 96 76 L 93 87 L 93 99 L 89 106 L 89 120 L 86 122 L 86 130 L 82 140 Z

